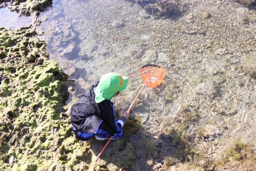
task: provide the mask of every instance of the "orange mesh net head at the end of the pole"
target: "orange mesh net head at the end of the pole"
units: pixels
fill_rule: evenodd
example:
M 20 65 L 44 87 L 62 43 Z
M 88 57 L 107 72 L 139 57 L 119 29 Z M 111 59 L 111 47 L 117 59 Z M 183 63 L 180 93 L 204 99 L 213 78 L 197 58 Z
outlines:
M 164 68 L 154 65 L 154 64 L 148 64 L 144 65 L 140 68 L 140 75 L 143 78 L 144 82 L 146 82 L 146 85 L 150 88 L 154 88 L 157 85 L 160 85 L 166 76 L 166 72 Z

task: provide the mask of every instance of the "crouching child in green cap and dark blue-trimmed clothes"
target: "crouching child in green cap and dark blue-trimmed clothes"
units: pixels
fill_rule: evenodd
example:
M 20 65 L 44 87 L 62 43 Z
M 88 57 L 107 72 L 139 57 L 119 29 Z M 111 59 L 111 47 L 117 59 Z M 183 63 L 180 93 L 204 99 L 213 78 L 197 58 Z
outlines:
M 98 140 L 119 139 L 123 135 L 122 127 L 129 114 L 117 120 L 113 103 L 110 101 L 125 90 L 128 78 L 114 72 L 103 75 L 100 81 L 92 85 L 71 109 L 71 126 L 79 140 L 87 141 L 95 136 Z

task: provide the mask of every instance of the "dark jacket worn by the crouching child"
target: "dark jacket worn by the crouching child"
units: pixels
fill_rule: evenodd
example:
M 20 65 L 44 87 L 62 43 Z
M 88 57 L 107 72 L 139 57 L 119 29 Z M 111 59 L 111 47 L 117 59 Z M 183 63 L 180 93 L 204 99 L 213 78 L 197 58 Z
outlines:
M 83 133 L 95 133 L 101 123 L 110 136 L 118 133 L 121 124 L 116 122 L 113 103 L 110 100 L 95 102 L 94 88 L 98 82 L 92 85 L 91 89 L 83 94 L 81 99 L 74 103 L 71 109 L 71 121 L 74 128 Z

